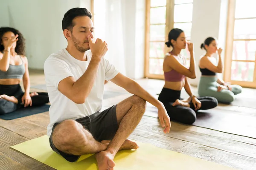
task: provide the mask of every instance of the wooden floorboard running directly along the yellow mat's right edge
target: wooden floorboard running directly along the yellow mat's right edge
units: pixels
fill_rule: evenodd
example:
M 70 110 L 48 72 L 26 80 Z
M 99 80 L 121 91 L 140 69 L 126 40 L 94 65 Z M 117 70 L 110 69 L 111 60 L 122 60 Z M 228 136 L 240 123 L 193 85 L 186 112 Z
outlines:
M 172 150 L 207 161 L 213 161 L 236 169 L 253 170 L 256 167 L 256 159 L 171 138 L 158 133 L 152 133 L 148 130 L 136 129 L 131 136 L 129 136 L 129 139 L 154 144 L 163 149 Z M 186 163 L 186 160 L 184 160 L 184 163 Z

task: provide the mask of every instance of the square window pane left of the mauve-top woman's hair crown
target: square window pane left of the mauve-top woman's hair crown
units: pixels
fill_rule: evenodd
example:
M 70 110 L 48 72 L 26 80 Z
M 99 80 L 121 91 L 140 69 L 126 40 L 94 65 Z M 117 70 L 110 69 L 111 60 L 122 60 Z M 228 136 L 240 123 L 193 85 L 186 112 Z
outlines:
M 150 41 L 165 41 L 165 24 L 150 26 Z

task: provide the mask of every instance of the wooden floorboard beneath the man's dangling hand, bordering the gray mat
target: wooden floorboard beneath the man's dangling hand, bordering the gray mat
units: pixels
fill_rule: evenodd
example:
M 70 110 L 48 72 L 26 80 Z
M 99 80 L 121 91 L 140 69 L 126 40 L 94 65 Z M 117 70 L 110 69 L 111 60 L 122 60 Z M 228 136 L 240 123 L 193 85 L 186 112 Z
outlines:
M 157 119 L 150 119 L 148 116 L 144 116 L 143 125 L 138 128 L 146 130 L 152 133 L 160 133 L 164 136 L 169 136 L 174 139 L 180 139 L 186 142 L 192 142 L 195 144 L 201 144 L 203 146 L 217 148 L 230 153 L 236 153 L 238 155 L 247 156 L 256 159 L 256 145 L 238 142 L 221 137 L 211 136 L 202 133 L 183 129 L 182 126 L 172 126 L 170 133 L 163 133 L 163 128 L 160 126 Z

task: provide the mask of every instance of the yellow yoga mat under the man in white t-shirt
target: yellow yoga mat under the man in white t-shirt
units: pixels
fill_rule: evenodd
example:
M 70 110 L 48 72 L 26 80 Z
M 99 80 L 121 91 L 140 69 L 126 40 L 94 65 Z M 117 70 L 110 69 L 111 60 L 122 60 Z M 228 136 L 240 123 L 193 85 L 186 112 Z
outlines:
M 137 144 L 138 150 L 122 150 L 116 154 L 115 170 L 234 170 L 211 161 L 161 149 L 152 144 Z M 41 136 L 12 148 L 57 170 L 97 170 L 94 155 L 81 156 L 79 161 L 70 163 L 52 151 L 48 136 Z

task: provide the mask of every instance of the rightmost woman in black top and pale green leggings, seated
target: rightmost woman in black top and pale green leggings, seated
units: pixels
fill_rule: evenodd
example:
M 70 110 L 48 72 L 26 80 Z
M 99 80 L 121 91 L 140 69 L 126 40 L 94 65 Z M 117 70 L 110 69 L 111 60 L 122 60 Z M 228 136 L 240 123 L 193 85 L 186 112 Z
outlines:
M 202 73 L 198 86 L 199 96 L 212 96 L 219 102 L 230 103 L 235 99 L 236 94 L 242 92 L 242 87 L 239 85 L 230 85 L 224 82 L 217 76 L 217 73 L 222 73 L 221 48 L 217 48 L 217 42 L 214 38 L 208 37 L 201 48 L 206 50 L 206 54 L 200 58 L 199 68 Z M 218 65 L 212 54 L 218 51 Z

